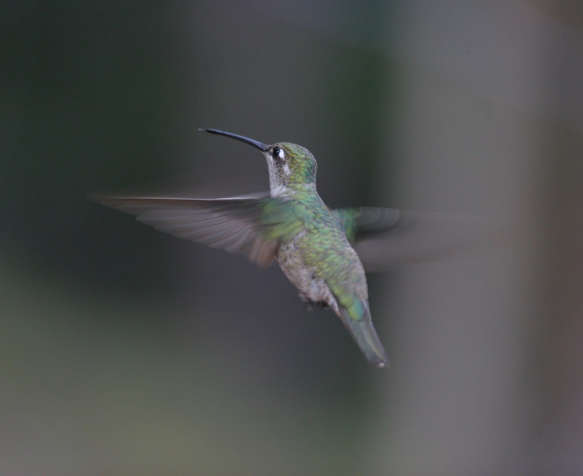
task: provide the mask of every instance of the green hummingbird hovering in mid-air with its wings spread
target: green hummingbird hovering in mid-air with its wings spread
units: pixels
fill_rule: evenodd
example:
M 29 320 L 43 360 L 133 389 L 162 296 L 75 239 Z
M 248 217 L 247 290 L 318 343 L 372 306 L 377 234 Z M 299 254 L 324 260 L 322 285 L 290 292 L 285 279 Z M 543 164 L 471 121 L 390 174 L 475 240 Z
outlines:
M 380 368 L 388 366 L 389 359 L 371 320 L 364 267 L 352 245 L 364 237 L 409 230 L 417 226 L 419 214 L 390 208 L 330 209 L 316 190 L 317 165 L 309 150 L 293 143 L 265 145 L 230 132 L 199 130 L 261 150 L 267 159 L 270 193 L 216 199 L 93 198 L 182 239 L 247 254 L 252 262 L 265 267 L 275 260 L 299 290 L 307 309 L 331 308 L 368 361 Z M 425 220 L 430 229 L 432 220 L 431 214 Z M 415 237 L 410 240 L 405 234 L 404 243 L 394 240 L 392 253 L 387 251 L 391 243 L 384 243 L 381 261 L 401 261 L 403 256 L 398 254 L 409 253 L 414 241 Z M 413 256 L 404 260 L 443 251 L 440 246 L 437 250 L 426 246 L 423 239 L 417 248 L 421 253 L 414 250 Z M 378 257 L 373 253 L 370 261 L 378 265 Z

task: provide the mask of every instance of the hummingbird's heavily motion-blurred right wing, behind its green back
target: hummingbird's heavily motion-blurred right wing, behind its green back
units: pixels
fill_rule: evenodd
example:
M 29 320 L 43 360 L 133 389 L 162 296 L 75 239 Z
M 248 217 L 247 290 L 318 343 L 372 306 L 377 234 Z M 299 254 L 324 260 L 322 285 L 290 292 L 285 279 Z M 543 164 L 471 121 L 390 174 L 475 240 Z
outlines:
M 471 248 L 500 231 L 495 220 L 395 208 L 340 208 L 333 213 L 367 272 L 428 261 Z

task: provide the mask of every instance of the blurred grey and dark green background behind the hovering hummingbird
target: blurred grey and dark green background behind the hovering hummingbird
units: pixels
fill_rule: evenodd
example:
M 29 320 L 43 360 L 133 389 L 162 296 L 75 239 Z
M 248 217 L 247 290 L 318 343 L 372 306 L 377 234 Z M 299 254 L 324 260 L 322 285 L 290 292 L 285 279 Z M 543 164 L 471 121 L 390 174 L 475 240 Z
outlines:
M 0 474 L 583 474 L 583 8 L 5 1 Z M 280 270 L 91 192 L 266 190 L 514 217 L 370 275 L 392 368 Z

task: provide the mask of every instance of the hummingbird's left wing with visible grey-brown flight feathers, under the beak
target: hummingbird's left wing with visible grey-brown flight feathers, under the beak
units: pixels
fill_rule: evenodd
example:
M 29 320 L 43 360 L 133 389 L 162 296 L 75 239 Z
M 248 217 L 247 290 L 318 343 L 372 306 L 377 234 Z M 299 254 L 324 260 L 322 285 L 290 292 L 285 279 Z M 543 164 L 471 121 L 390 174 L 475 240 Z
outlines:
M 231 253 L 247 254 L 252 262 L 262 266 L 269 265 L 280 240 L 297 227 L 293 209 L 286 202 L 266 195 L 216 199 L 90 198 L 136 215 L 136 219 L 161 232 Z

